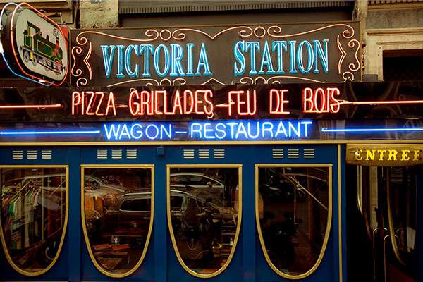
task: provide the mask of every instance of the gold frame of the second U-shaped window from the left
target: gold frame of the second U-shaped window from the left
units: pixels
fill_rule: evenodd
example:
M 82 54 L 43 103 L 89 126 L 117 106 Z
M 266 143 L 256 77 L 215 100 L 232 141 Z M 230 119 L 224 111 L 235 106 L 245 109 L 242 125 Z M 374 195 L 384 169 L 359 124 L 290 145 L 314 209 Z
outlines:
M 142 250 L 142 254 L 140 256 L 140 259 L 138 260 L 137 264 L 133 267 L 133 269 L 130 269 L 129 271 L 126 271 L 123 274 L 115 274 L 111 271 L 107 271 L 106 269 L 103 269 L 103 267 L 97 262 L 97 259 L 94 257 L 94 254 L 91 249 L 91 243 L 88 238 L 87 233 L 87 226 L 85 223 L 85 191 L 84 191 L 84 170 L 85 168 L 147 168 L 149 169 L 151 174 L 151 193 L 152 193 L 152 200 L 151 200 L 151 209 L 150 209 L 150 223 L 147 233 L 147 238 L 145 239 L 145 245 L 144 249 Z M 81 170 L 81 183 L 80 183 L 80 190 L 81 190 L 81 223 L 82 223 L 82 231 L 84 233 L 84 239 L 85 239 L 85 245 L 87 246 L 88 254 L 90 255 L 90 259 L 94 266 L 105 276 L 109 276 L 111 278 L 124 278 L 126 276 L 130 276 L 133 274 L 137 269 L 139 269 L 140 265 L 145 259 L 145 255 L 147 254 L 148 246 L 149 246 L 149 240 L 152 235 L 153 230 L 153 222 L 154 222 L 154 164 L 81 164 L 80 165 Z

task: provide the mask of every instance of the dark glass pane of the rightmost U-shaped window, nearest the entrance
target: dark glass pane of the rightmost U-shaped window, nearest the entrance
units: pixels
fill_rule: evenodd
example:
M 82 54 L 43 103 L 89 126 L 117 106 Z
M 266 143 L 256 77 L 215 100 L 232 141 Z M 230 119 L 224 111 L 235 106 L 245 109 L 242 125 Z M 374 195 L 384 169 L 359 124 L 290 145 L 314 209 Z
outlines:
M 282 275 L 310 274 L 329 235 L 330 168 L 262 167 L 258 175 L 257 217 L 266 259 Z

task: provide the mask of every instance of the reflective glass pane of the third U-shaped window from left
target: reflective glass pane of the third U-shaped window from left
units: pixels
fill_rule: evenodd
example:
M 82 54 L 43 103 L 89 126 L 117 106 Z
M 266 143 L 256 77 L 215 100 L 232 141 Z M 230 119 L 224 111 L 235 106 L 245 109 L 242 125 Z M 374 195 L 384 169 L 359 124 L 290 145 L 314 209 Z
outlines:
M 219 274 L 228 265 L 239 230 L 237 168 L 170 168 L 173 247 L 195 276 Z

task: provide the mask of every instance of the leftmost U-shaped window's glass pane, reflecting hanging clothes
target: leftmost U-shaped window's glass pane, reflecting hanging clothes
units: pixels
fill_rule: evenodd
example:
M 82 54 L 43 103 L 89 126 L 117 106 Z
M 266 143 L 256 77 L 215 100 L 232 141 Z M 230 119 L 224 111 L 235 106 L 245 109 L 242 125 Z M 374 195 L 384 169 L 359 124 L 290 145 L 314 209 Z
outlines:
M 42 274 L 66 229 L 66 168 L 0 168 L 0 177 L 6 255 L 21 273 Z

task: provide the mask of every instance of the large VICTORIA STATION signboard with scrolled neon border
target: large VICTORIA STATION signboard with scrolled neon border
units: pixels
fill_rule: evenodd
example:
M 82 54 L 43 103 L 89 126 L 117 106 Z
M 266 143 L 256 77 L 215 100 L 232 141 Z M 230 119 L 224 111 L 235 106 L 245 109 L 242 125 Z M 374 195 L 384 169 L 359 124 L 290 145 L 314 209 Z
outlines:
M 71 84 L 361 80 L 357 22 L 72 30 Z

